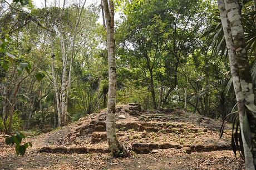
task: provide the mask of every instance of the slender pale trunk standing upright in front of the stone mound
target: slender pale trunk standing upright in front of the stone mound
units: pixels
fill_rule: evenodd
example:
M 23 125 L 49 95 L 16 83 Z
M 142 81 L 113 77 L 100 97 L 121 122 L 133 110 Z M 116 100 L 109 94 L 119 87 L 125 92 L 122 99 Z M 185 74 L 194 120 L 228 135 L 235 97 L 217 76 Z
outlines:
M 116 62 L 114 39 L 114 2 L 104 0 L 104 12 L 107 26 L 107 54 L 109 61 L 109 100 L 107 102 L 107 141 L 113 156 L 129 153 L 116 137 Z

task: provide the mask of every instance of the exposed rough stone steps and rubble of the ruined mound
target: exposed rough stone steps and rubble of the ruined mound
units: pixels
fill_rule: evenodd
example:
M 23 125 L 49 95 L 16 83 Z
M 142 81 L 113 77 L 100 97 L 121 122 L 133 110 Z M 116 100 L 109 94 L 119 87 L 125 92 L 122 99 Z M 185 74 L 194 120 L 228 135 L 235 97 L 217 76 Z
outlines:
M 143 114 L 142 114 L 143 113 Z M 139 121 L 131 121 L 116 124 L 116 129 L 118 129 L 117 136 L 121 137 L 125 135 L 125 131 L 143 132 L 145 134 L 150 132 L 158 133 L 198 133 L 198 132 L 207 132 L 203 128 L 196 128 L 186 123 L 168 123 L 173 121 L 177 116 L 169 115 L 170 112 L 161 114 L 160 112 L 146 112 L 141 109 L 140 104 L 130 103 L 125 106 L 116 107 L 116 117 L 117 119 L 126 119 L 128 116 L 139 117 Z M 178 113 L 177 113 L 178 114 Z M 160 123 L 152 123 L 149 121 L 156 120 Z M 90 119 L 87 123 L 80 122 L 77 123 L 78 127 L 75 129 L 75 133 L 68 134 L 68 138 L 71 136 L 79 137 L 86 136 L 91 138 L 91 143 L 100 143 L 107 141 L 106 136 L 106 111 L 102 111 L 97 114 L 90 116 Z M 142 136 L 141 136 L 142 137 Z M 197 144 L 197 145 L 181 145 L 176 143 L 130 143 L 131 151 L 134 151 L 139 154 L 144 153 L 154 153 L 153 151 L 158 151 L 159 149 L 181 149 L 185 153 L 192 152 L 209 152 L 209 151 L 220 151 L 220 150 L 229 150 L 230 144 L 227 143 L 215 143 L 215 144 Z M 39 152 L 50 152 L 50 153 L 109 153 L 107 148 L 87 148 L 87 147 L 43 147 Z

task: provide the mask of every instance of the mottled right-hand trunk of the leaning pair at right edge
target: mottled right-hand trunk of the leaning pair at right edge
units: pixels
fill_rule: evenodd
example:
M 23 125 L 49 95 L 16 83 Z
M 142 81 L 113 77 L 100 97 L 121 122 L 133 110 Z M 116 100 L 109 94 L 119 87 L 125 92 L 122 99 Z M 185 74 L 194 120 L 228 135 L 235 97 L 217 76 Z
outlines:
M 244 95 L 244 104 L 247 109 L 249 109 L 249 111 L 247 111 L 248 120 L 246 121 L 249 121 L 250 132 L 247 132 L 247 136 L 250 136 L 252 139 L 251 143 L 248 142 L 248 145 L 252 149 L 254 168 L 256 168 L 256 106 L 254 105 L 254 88 L 252 83 L 252 76 L 250 74 L 249 59 L 247 56 L 246 41 L 244 37 L 244 28 L 242 25 L 238 1 L 225 0 L 224 2 L 228 12 L 227 16 L 230 22 L 230 29 L 234 41 L 235 52 L 237 54 L 236 57 L 239 70 L 239 79 Z M 250 144 L 252 146 L 250 146 Z

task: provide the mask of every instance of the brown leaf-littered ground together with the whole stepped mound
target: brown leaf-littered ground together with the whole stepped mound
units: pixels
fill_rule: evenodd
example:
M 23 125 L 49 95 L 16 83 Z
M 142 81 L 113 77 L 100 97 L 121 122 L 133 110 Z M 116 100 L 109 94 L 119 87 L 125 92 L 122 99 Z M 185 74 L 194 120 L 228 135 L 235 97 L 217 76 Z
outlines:
M 144 111 L 116 107 L 116 131 L 131 157 L 112 158 L 106 110 L 55 131 L 27 137 L 33 146 L 16 156 L 0 136 L 0 169 L 245 169 L 230 148 L 231 126 L 219 139 L 220 121 L 183 109 Z

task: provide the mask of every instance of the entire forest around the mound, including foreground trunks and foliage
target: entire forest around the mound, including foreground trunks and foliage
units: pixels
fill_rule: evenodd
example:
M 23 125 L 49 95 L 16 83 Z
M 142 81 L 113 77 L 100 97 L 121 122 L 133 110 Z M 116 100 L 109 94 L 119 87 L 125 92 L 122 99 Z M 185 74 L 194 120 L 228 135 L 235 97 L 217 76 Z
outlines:
M 110 151 L 130 156 L 116 104 L 183 109 L 223 122 L 220 136 L 233 123 L 233 151 L 254 169 L 256 1 L 87 1 L 0 0 L 0 133 L 37 136 L 107 108 Z

